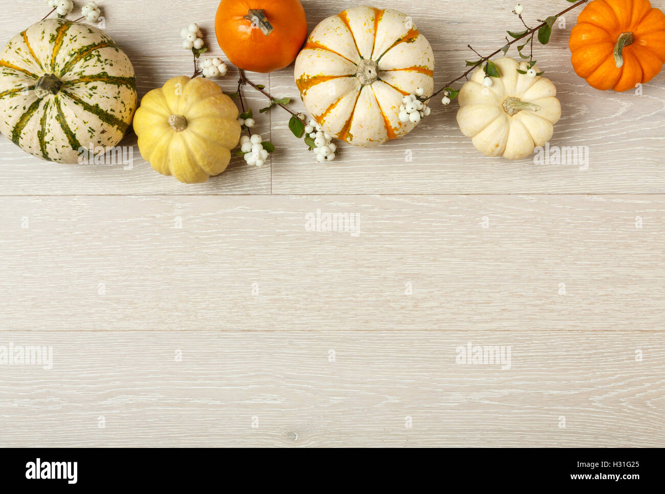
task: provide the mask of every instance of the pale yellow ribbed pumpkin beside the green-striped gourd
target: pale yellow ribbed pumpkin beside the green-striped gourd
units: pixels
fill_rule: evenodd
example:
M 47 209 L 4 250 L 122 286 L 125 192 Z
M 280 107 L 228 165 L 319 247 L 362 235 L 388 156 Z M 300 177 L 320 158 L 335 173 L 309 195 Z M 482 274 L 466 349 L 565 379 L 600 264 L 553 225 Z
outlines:
M 143 97 L 134 116 L 141 155 L 188 184 L 223 172 L 240 139 L 238 109 L 209 79 L 174 77 Z

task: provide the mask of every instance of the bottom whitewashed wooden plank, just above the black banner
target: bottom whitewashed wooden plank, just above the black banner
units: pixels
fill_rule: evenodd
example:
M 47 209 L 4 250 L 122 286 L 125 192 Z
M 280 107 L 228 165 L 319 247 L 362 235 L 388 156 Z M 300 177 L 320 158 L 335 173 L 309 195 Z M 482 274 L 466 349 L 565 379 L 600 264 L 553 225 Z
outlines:
M 2 447 L 654 447 L 665 440 L 665 342 L 654 332 L 0 336 L 5 346 L 53 346 L 51 370 L 0 366 Z M 458 347 L 469 342 L 510 347 L 510 368 L 456 364 Z

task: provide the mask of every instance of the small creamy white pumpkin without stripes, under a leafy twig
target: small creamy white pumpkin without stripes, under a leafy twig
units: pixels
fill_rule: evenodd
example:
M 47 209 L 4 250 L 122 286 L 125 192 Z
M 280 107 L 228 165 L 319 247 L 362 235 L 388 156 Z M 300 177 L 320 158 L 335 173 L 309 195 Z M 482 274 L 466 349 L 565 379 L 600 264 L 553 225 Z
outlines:
M 494 63 L 501 77 L 492 77 L 490 87 L 483 85 L 481 69 L 462 86 L 457 121 L 483 154 L 519 160 L 552 137 L 561 117 L 557 88 L 545 77 L 518 73 L 529 68 L 524 61 L 503 57 Z

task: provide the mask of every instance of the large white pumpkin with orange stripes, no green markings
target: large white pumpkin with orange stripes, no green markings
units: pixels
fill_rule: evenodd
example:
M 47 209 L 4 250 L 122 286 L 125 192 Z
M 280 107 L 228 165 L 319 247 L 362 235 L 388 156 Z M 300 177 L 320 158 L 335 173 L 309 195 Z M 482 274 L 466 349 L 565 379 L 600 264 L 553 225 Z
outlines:
M 416 124 L 398 117 L 404 95 L 434 91 L 434 54 L 412 19 L 354 7 L 314 28 L 295 61 L 295 81 L 314 119 L 332 136 L 374 147 Z

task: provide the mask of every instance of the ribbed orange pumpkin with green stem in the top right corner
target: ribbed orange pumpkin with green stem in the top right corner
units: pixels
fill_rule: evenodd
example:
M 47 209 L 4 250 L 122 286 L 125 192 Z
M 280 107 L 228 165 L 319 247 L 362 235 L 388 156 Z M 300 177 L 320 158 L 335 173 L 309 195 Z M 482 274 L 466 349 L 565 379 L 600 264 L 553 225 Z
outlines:
M 575 73 L 596 89 L 626 91 L 665 63 L 665 14 L 649 0 L 593 0 L 577 17 L 568 45 Z

